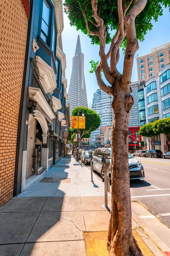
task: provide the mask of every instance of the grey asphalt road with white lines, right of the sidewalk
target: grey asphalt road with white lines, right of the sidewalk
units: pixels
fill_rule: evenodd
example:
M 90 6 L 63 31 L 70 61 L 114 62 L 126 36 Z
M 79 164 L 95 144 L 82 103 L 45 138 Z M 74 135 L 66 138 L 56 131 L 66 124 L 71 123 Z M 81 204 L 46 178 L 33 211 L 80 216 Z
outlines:
M 170 159 L 135 158 L 142 163 L 145 177 L 143 180 L 130 181 L 131 200 L 141 202 L 170 227 Z M 87 167 L 90 169 L 89 165 Z M 94 175 L 103 182 L 97 172 Z

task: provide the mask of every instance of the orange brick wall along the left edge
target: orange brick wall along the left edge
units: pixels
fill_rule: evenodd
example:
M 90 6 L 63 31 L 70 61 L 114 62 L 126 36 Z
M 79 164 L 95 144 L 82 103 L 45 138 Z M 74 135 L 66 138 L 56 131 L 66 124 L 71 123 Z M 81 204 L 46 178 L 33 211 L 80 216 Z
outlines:
M 13 196 L 27 28 L 21 0 L 0 0 L 0 207 Z

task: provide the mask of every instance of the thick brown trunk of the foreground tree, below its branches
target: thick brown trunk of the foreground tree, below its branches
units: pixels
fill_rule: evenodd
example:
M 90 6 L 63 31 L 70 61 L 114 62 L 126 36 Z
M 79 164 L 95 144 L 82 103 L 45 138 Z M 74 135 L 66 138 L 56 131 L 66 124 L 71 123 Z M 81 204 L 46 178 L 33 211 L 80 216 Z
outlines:
M 142 256 L 132 235 L 132 214 L 128 163 L 129 111 L 133 97 L 116 82 L 111 157 L 111 218 L 108 233 L 110 256 Z M 124 87 L 125 88 L 125 87 Z

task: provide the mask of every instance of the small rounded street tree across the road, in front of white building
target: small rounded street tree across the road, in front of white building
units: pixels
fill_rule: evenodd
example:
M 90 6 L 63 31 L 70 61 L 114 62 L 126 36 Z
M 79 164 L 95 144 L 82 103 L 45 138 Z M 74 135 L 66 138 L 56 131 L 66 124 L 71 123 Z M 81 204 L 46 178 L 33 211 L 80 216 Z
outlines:
M 156 122 L 156 121 L 155 121 Z M 143 136 L 143 137 L 147 137 L 147 139 L 149 140 L 149 142 L 151 143 L 151 145 L 153 146 L 153 148 L 155 148 L 154 145 L 154 141 L 155 141 L 155 136 L 159 135 L 159 132 L 155 130 L 153 130 L 153 123 L 148 123 L 147 125 L 143 125 L 140 130 L 139 130 L 139 135 Z

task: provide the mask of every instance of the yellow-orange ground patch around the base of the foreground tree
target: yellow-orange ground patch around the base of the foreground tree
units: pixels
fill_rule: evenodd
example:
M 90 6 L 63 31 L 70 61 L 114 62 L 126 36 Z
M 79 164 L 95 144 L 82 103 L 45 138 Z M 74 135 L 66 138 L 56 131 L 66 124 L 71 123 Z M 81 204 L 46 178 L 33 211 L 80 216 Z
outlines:
M 144 256 L 154 256 L 136 230 L 133 230 L 133 236 L 136 239 Z M 106 249 L 108 231 L 85 232 L 84 239 L 87 250 L 87 256 L 109 256 Z

